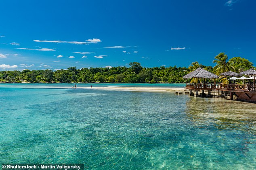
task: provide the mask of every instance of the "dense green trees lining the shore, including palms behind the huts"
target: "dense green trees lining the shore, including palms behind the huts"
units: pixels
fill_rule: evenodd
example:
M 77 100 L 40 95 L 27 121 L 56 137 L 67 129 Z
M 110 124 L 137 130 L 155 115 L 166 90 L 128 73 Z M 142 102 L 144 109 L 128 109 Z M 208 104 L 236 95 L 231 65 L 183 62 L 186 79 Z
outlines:
M 196 68 L 202 67 L 206 70 L 219 74 L 220 72 L 236 71 L 240 72 L 253 67 L 253 63 L 241 57 L 233 57 L 227 61 L 227 55 L 220 53 L 215 57 L 214 63 L 217 65 L 203 66 L 197 61 L 191 63 L 189 68 L 180 67 L 154 67 L 143 68 L 140 63 L 132 62 L 130 67 L 112 68 L 67 68 L 67 70 L 23 70 L 23 71 L 1 71 L 1 82 L 125 82 L 125 83 L 185 83 L 182 77 Z

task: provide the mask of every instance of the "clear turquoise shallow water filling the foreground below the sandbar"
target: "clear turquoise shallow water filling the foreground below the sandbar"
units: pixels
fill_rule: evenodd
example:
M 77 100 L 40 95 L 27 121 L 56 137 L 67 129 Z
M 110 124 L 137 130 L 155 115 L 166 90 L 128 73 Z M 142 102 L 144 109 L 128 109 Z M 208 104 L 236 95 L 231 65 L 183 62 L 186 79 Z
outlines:
M 173 92 L 25 87 L 0 84 L 1 163 L 256 167 L 256 104 Z

